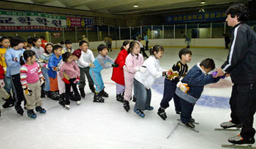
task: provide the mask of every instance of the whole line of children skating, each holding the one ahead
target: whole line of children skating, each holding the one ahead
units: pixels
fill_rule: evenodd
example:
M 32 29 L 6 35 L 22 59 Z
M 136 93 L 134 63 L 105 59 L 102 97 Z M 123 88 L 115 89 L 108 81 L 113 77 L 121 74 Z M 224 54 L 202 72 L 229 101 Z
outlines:
M 6 43 L 8 41 L 10 44 Z M 3 99 L 6 99 L 3 107 L 14 105 L 20 115 L 23 115 L 21 102 L 25 99 L 24 105 L 30 118 L 37 117 L 34 109 L 40 113 L 46 112 L 41 99 L 45 96 L 58 100 L 67 109 L 70 108 L 70 100 L 79 105 L 81 97 L 86 96 L 86 77 L 94 93 L 93 102 L 105 102 L 103 97 L 108 97 L 108 93 L 104 90 L 101 71 L 113 67 L 111 80 L 116 82 L 116 100 L 123 103 L 124 110 L 128 112 L 130 109 L 129 101 L 134 88 L 134 112 L 145 117 L 144 110 L 154 109 L 151 107 L 151 86 L 154 80 L 165 77 L 165 90 L 158 115 L 163 120 L 167 118 L 165 109 L 173 98 L 182 123 L 193 128 L 192 122 L 195 120 L 191 116 L 192 110 L 203 86 L 219 80 L 219 77 L 214 78 L 214 74 L 208 75 L 215 68 L 211 58 L 196 64 L 188 72 L 187 63 L 191 61 L 192 52 L 187 48 L 181 49 L 178 54 L 181 61 L 165 71 L 159 66 L 159 59 L 164 53 L 161 45 L 152 47 L 150 56 L 144 61 L 138 41 L 125 41 L 114 61 L 108 56 L 105 45 L 97 47 L 99 55 L 94 58 L 86 41 L 79 43 L 78 50 L 72 48 L 69 40 L 65 41 L 64 49 L 49 42 L 44 49 L 40 46 L 41 39 L 34 37 L 31 50 L 24 50 L 24 42 L 21 37 L 1 38 L 1 48 L 5 50 L 1 50 L 0 91 Z M 15 100 L 12 99 L 11 88 Z

